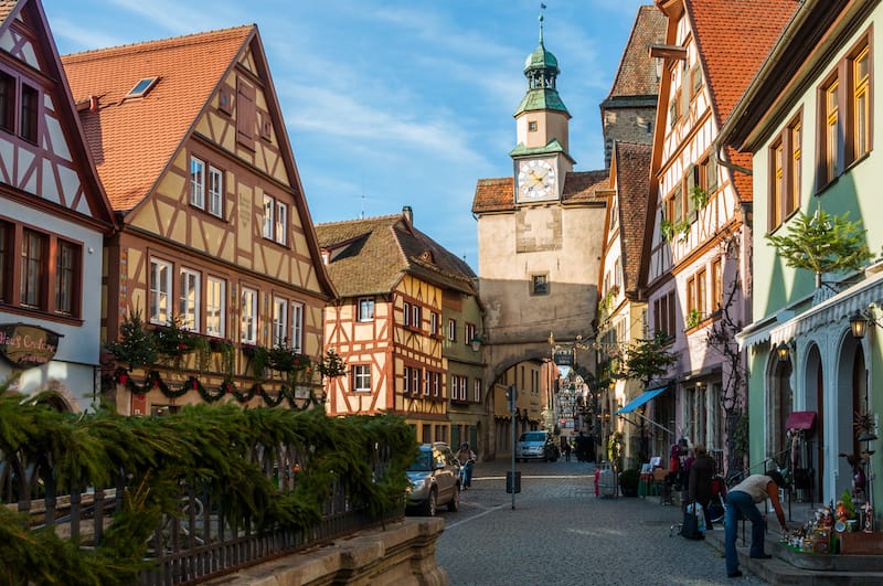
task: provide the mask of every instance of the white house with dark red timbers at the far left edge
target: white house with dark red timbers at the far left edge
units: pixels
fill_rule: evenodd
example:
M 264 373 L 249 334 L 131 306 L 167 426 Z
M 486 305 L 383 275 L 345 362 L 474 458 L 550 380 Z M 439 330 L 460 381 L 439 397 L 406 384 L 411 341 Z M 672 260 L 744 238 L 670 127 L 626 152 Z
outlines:
M 114 219 L 39 0 L 0 3 L 0 380 L 94 401 Z

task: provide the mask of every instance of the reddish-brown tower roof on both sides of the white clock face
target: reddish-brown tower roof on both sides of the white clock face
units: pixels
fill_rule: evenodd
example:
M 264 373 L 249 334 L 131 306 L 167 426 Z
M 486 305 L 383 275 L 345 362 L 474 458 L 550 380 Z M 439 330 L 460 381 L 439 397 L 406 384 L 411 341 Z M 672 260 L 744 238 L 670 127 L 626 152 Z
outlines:
M 562 205 L 606 204 L 599 192 L 609 189 L 607 169 L 596 171 L 571 171 L 564 178 Z M 555 203 L 555 202 L 551 202 Z M 479 179 L 472 199 L 472 213 L 511 212 L 515 209 L 514 178 Z

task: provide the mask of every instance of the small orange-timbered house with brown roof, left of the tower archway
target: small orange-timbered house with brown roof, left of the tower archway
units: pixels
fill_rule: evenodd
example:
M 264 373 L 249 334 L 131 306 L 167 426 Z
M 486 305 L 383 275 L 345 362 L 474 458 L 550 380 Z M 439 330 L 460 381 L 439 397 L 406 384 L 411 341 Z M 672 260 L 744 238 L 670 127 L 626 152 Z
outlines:
M 416 230 L 409 209 L 316 231 L 340 295 L 326 309 L 326 348 L 349 365 L 329 383 L 330 415 L 393 413 L 418 440 L 449 441 L 443 348 L 466 330 L 445 321 L 445 300 L 476 297 L 475 274 Z M 468 382 L 466 390 L 468 401 Z

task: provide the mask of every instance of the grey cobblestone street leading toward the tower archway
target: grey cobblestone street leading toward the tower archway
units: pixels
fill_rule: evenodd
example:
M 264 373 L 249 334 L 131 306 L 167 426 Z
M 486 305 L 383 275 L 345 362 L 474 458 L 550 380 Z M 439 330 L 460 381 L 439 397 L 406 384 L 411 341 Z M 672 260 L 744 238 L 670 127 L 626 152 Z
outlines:
M 440 513 L 436 558 L 451 585 L 764 584 L 748 573 L 727 578 L 719 551 L 670 534 L 679 508 L 595 497 L 592 464 L 517 464 L 514 509 L 510 469 L 510 461 L 479 462 L 460 511 Z

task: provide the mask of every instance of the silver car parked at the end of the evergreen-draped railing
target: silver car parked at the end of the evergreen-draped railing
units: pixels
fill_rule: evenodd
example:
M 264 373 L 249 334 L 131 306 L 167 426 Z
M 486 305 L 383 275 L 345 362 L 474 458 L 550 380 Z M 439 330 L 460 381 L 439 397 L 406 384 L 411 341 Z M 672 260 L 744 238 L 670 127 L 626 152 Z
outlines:
M 444 441 L 424 444 L 414 462 L 407 468 L 411 487 L 405 510 L 435 516 L 437 508 L 447 504 L 448 511 L 460 508 L 460 462 Z

